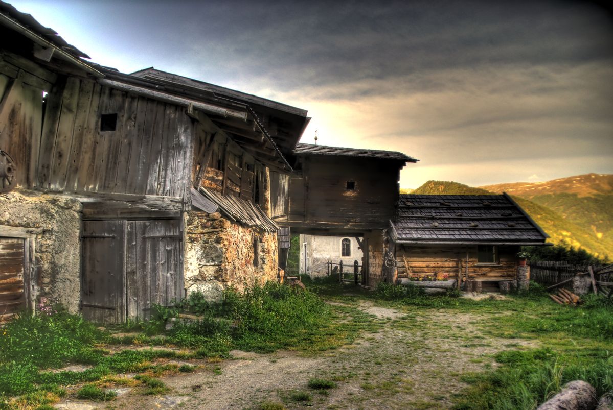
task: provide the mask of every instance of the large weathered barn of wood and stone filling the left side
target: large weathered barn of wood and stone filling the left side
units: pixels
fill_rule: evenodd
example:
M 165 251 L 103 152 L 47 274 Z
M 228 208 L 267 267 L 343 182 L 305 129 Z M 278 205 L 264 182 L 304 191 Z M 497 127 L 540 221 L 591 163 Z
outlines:
M 91 64 L 4 2 L 0 39 L 0 315 L 52 297 L 120 322 L 276 278 L 306 111 Z

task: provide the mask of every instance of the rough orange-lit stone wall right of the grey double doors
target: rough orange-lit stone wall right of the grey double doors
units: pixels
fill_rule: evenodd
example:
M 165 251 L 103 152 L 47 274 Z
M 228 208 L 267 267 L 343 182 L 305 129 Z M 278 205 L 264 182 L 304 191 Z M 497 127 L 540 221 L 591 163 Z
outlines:
M 259 260 L 254 266 L 254 243 L 259 238 Z M 246 228 L 220 214 L 185 214 L 185 289 L 219 300 L 223 290 L 238 291 L 276 280 L 276 232 Z

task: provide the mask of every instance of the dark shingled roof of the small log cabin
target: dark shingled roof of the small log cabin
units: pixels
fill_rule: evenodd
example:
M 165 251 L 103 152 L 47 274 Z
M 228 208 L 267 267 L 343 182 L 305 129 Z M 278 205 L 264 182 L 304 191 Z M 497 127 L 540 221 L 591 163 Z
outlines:
M 400 195 L 398 243 L 544 244 L 549 235 L 503 195 Z

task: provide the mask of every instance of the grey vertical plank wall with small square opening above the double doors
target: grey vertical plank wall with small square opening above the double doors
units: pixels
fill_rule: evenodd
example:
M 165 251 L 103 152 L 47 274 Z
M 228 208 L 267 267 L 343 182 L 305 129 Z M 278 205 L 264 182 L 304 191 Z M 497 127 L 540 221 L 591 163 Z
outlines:
M 193 125 L 185 108 L 69 77 L 47 95 L 36 187 L 185 198 Z M 117 114 L 101 131 L 101 114 Z

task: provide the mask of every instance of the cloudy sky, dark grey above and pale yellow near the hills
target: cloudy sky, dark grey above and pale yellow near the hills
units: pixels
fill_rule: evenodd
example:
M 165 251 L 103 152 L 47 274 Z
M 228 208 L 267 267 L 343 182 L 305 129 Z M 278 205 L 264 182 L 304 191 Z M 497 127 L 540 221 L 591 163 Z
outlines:
M 8 1 L 93 62 L 308 110 L 303 143 L 419 158 L 403 188 L 613 173 L 613 17 L 592 2 Z

